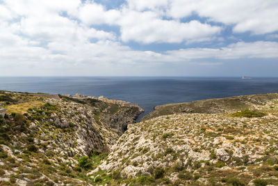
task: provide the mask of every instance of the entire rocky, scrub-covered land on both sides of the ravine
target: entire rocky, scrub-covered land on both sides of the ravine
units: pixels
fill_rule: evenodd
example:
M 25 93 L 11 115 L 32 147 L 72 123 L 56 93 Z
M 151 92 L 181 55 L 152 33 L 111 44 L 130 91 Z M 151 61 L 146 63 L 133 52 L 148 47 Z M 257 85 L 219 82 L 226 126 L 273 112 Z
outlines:
M 0 92 L 0 185 L 278 185 L 278 94 L 156 107 Z

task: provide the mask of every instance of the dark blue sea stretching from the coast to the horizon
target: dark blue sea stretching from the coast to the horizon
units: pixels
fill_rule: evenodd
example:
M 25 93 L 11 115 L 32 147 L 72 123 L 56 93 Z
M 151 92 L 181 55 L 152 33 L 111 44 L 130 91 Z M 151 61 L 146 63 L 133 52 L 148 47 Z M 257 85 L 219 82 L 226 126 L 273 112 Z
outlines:
M 278 78 L 0 77 L 0 90 L 104 95 L 106 98 L 137 103 L 147 114 L 160 104 L 233 95 L 278 93 Z

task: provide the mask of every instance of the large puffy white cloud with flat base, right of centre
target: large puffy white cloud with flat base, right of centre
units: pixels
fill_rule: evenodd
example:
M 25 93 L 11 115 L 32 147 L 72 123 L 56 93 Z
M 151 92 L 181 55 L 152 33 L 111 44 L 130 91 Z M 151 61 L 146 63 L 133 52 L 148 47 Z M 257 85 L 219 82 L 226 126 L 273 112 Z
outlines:
M 195 20 L 188 23 L 161 20 L 158 15 L 149 11 L 140 13 L 126 10 L 123 15 L 119 24 L 121 26 L 121 38 L 124 42 L 133 40 L 143 43 L 179 43 L 185 40 L 207 40 L 221 31 L 219 26 L 202 24 Z

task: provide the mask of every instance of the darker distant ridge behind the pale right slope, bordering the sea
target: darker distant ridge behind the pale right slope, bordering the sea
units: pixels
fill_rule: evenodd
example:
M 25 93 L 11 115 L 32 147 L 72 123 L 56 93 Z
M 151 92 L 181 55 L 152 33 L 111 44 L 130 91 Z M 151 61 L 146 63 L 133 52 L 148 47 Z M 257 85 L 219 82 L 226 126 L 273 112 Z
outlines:
M 164 104 L 156 106 L 154 111 L 142 118 L 142 121 L 146 121 L 150 118 L 156 118 L 158 116 L 178 113 L 216 114 L 244 109 L 256 109 L 257 107 L 263 106 L 268 101 L 277 99 L 278 93 L 268 93 L 198 100 L 194 102 L 183 102 L 177 104 Z

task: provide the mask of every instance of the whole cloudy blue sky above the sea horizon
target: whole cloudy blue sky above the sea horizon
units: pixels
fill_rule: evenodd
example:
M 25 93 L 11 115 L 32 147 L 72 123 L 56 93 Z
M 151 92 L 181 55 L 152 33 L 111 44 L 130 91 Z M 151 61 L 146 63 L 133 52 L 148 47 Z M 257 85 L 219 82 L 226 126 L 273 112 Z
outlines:
M 0 0 L 0 76 L 278 77 L 277 0 Z

